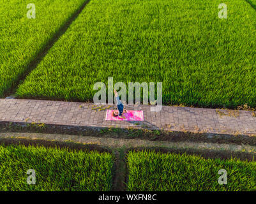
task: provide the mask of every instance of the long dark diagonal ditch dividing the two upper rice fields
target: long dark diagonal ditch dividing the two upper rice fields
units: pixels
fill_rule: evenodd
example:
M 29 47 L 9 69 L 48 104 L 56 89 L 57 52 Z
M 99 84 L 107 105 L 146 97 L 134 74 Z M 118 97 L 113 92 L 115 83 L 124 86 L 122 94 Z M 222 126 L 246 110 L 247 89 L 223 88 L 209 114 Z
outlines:
M 45 45 L 45 47 L 42 48 L 42 50 L 39 51 L 39 54 L 36 55 L 36 57 L 34 57 L 33 61 L 31 61 L 29 63 L 29 65 L 27 66 L 27 69 L 26 69 L 24 75 L 22 75 L 20 77 L 20 79 L 18 80 L 18 82 L 13 85 L 13 87 L 11 88 L 11 91 L 6 93 L 4 96 L 10 95 L 9 97 L 11 97 L 11 98 L 15 98 L 16 97 L 16 90 L 19 87 L 19 85 L 25 80 L 27 75 L 29 75 L 29 73 L 31 73 L 31 71 L 33 71 L 33 69 L 35 69 L 38 66 L 38 64 L 41 62 L 43 57 L 45 57 L 45 55 L 47 55 L 47 53 L 49 52 L 50 48 L 52 48 L 54 43 L 56 43 L 56 41 L 59 40 L 59 38 L 64 33 L 66 33 L 66 30 L 68 29 L 68 27 L 70 27 L 72 22 L 79 16 L 79 14 L 82 12 L 82 10 L 84 10 L 84 8 L 86 7 L 86 5 L 89 2 L 90 2 L 90 0 L 85 0 L 84 3 L 82 4 L 82 6 L 80 6 L 80 8 L 73 13 L 73 15 L 64 23 L 64 25 L 62 25 L 60 27 L 60 29 L 49 40 L 47 45 Z

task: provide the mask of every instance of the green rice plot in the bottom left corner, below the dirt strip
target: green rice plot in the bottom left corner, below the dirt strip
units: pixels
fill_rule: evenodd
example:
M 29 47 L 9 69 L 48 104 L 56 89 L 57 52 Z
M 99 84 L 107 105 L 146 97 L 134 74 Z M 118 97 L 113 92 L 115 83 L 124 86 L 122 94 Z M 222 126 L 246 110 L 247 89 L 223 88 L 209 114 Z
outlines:
M 109 153 L 45 147 L 0 146 L 0 191 L 110 191 Z M 36 184 L 27 184 L 27 170 Z

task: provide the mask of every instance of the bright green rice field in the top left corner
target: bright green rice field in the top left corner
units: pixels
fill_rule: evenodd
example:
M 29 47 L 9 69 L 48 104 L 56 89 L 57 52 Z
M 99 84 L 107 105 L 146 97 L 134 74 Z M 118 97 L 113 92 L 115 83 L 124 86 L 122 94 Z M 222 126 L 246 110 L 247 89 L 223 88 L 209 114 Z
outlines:
M 29 0 L 1 0 L 0 97 L 24 75 L 27 66 L 86 0 L 34 0 L 36 18 L 27 18 Z

